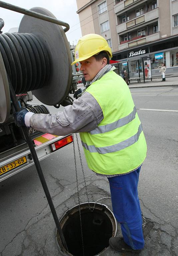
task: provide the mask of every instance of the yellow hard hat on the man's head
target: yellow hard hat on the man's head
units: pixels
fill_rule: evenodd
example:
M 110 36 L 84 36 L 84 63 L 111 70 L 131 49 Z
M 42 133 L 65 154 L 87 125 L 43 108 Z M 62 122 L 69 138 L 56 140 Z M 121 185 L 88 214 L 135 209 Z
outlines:
M 71 65 L 90 58 L 91 56 L 106 51 L 112 58 L 111 48 L 106 39 L 98 34 L 88 34 L 81 37 L 75 47 L 75 60 Z

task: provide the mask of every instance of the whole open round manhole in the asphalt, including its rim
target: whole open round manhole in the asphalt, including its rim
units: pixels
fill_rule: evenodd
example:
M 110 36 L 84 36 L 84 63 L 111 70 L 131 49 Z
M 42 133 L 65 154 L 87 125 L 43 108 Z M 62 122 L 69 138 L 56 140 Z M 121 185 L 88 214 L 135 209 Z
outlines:
M 114 214 L 104 204 L 90 202 L 80 204 L 84 255 L 101 255 L 109 246 L 109 238 L 116 235 L 117 222 Z M 66 211 L 60 219 L 68 251 L 65 250 L 58 231 L 56 230 L 57 244 L 62 255 L 83 256 L 81 239 L 79 206 Z

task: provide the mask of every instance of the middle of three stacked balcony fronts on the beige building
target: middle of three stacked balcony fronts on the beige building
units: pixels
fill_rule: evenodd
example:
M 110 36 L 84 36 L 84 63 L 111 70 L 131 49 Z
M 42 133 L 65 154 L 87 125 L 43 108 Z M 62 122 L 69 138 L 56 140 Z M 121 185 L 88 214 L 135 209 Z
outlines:
M 152 21 L 158 17 L 159 17 L 159 9 L 156 8 L 156 9 L 146 12 L 138 17 L 135 17 L 132 20 L 129 20 L 127 22 L 117 25 L 116 26 L 117 33 L 125 34 L 128 29 L 135 27 L 141 23 Z

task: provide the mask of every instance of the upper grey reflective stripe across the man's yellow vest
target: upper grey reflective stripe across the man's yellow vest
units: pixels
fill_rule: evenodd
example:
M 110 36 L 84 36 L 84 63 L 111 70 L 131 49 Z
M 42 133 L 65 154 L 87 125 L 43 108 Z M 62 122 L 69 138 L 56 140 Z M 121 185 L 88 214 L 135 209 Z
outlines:
M 136 113 L 137 113 L 137 110 L 136 110 L 136 107 L 134 106 L 133 111 L 128 116 L 120 118 L 119 120 L 117 120 L 111 124 L 97 126 L 95 129 L 93 129 L 89 133 L 90 134 L 99 134 L 99 133 L 105 133 L 105 132 L 110 132 L 112 130 L 115 130 L 121 126 L 124 126 L 124 125 L 130 123 L 135 118 Z

